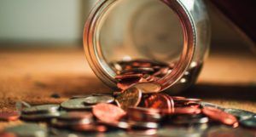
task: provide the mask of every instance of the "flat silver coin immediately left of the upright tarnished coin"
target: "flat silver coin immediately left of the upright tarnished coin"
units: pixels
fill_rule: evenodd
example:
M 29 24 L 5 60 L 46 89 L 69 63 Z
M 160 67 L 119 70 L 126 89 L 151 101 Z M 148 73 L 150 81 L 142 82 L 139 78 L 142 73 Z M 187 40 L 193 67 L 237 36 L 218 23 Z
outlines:
M 109 95 L 91 95 L 84 98 L 84 103 L 89 105 L 96 105 L 98 103 L 112 103 L 114 98 Z

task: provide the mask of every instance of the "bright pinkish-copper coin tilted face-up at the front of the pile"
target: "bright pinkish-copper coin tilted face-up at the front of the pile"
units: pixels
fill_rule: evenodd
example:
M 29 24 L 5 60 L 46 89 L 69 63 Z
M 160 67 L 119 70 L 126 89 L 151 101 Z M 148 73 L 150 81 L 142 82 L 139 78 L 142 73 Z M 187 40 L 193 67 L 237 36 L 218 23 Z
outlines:
M 126 114 L 125 111 L 118 106 L 105 103 L 93 106 L 92 112 L 95 117 L 106 123 L 117 122 L 121 117 L 124 117 Z

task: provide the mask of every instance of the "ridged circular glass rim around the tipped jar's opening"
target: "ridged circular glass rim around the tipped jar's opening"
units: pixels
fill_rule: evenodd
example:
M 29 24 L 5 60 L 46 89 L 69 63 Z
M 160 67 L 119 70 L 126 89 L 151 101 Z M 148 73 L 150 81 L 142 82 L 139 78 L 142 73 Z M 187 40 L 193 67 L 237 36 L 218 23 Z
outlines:
M 172 87 L 173 84 L 177 83 L 183 73 L 189 68 L 191 61 L 195 54 L 195 24 L 192 20 L 189 9 L 186 6 L 186 2 L 172 1 L 172 0 L 159 0 L 161 3 L 165 3 L 175 14 L 177 14 L 183 29 L 183 51 L 173 67 L 172 72 L 154 83 L 161 85 L 161 90 Z M 107 13 L 109 9 L 116 3 L 117 0 L 104 0 L 96 3 L 96 6 L 92 9 L 90 16 L 84 26 L 84 50 L 86 58 L 90 64 L 92 70 L 96 73 L 103 83 L 107 83 L 108 86 L 116 88 L 118 82 L 114 77 L 116 72 L 113 71 L 111 66 L 106 61 L 100 42 L 100 29 L 102 26 L 102 17 Z

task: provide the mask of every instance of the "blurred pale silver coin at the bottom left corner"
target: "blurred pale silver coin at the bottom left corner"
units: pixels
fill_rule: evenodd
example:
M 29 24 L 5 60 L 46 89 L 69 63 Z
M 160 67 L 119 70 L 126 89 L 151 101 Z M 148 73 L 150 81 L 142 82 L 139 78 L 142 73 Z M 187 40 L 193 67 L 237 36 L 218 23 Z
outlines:
M 5 129 L 6 132 L 14 133 L 19 137 L 47 137 L 48 130 L 42 124 L 26 123 Z

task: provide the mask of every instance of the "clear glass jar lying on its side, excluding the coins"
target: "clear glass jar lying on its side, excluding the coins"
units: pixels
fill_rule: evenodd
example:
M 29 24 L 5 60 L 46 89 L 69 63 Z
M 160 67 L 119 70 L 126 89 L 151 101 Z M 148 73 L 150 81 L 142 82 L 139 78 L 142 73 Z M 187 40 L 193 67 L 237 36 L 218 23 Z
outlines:
M 172 71 L 158 78 L 174 94 L 195 83 L 210 43 L 202 0 L 100 0 L 84 27 L 84 50 L 103 83 L 117 88 L 113 62 L 152 60 Z

